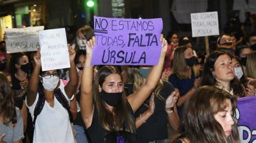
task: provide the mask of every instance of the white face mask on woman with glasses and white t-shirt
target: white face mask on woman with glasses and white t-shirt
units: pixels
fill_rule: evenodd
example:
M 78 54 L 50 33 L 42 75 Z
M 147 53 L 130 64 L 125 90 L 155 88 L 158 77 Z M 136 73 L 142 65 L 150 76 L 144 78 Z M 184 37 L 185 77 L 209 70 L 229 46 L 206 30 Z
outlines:
M 44 89 L 48 91 L 54 90 L 59 83 L 59 77 L 45 76 L 42 78 L 43 78 Z

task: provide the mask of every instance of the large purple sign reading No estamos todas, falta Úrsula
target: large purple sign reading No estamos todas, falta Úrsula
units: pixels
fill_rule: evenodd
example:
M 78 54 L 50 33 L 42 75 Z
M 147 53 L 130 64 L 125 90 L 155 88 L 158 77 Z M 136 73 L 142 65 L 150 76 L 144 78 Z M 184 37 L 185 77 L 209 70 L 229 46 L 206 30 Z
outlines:
M 95 17 L 91 65 L 157 65 L 163 20 Z

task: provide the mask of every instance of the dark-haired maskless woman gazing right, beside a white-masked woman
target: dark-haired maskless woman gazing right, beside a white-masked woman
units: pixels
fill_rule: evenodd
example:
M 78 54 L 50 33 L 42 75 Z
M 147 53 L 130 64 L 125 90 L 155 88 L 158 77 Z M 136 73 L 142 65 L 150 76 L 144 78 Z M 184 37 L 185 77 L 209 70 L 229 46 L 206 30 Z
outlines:
M 201 85 L 215 86 L 237 97 L 246 96 L 240 81 L 235 77 L 232 55 L 225 51 L 214 51 L 208 56 Z

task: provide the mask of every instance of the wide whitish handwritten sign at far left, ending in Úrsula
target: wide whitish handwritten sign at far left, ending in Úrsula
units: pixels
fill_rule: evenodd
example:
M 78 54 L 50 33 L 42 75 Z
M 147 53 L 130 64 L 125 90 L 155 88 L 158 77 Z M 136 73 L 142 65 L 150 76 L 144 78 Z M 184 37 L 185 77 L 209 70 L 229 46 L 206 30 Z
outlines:
M 44 30 L 44 26 L 26 28 L 6 28 L 7 53 L 37 51 L 39 48 L 38 31 Z

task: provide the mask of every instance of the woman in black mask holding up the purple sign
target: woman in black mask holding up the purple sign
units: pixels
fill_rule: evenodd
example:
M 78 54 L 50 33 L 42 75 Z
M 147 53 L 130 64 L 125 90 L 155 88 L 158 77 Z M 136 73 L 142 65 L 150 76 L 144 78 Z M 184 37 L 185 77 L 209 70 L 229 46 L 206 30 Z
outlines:
M 163 35 L 161 41 L 162 50 L 158 65 L 153 66 L 142 87 L 128 97 L 123 92 L 121 73 L 115 67 L 100 68 L 93 84 L 93 66 L 90 63 L 92 48 L 96 45 L 95 37 L 87 41 L 80 105 L 92 142 L 136 142 L 134 112 L 150 96 L 159 81 L 167 49 Z

